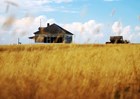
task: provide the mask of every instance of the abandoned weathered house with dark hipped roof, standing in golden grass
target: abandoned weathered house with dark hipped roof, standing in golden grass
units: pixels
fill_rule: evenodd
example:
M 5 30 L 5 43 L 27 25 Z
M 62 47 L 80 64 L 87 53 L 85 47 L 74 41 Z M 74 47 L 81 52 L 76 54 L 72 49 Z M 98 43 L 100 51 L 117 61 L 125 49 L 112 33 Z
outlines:
M 73 34 L 63 29 L 57 24 L 47 24 L 47 27 L 39 27 L 34 33 L 35 36 L 29 37 L 36 43 L 72 43 Z

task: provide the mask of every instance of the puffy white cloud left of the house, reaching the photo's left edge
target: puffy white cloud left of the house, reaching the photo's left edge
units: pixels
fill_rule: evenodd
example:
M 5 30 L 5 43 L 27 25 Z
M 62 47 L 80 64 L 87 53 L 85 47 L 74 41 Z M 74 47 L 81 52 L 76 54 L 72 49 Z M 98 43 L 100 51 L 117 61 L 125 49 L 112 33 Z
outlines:
M 2 16 L 1 16 L 2 18 Z M 9 39 L 5 41 L 5 43 L 16 43 L 17 38 L 26 38 L 25 43 L 28 42 L 28 37 L 33 35 L 33 32 L 38 30 L 40 26 L 40 19 L 42 20 L 42 27 L 47 26 L 47 23 L 54 23 L 54 19 L 48 19 L 45 16 L 32 17 L 27 16 L 19 19 L 6 19 L 3 18 L 3 21 L 0 21 L 5 27 L 1 26 L 0 29 L 0 42 L 4 42 L 2 40 Z M 10 20 L 10 21 L 9 21 Z M 11 22 L 12 20 L 12 22 Z

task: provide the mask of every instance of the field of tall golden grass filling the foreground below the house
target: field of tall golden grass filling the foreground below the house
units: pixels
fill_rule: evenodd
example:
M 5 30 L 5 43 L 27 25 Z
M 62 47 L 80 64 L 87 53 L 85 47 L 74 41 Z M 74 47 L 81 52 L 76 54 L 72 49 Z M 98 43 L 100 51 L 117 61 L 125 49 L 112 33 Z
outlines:
M 0 46 L 0 99 L 140 99 L 140 45 Z

